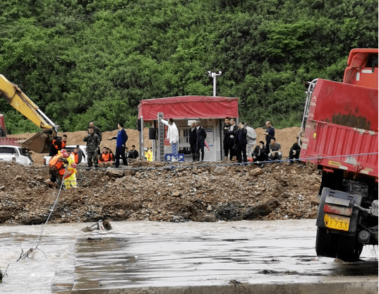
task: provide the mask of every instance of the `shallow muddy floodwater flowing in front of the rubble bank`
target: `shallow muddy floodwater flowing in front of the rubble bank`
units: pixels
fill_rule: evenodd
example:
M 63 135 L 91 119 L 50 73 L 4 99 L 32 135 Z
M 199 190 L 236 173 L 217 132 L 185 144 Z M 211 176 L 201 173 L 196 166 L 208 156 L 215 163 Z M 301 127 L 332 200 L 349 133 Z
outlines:
M 0 226 L 0 293 L 59 293 L 80 289 L 304 283 L 338 276 L 378 276 L 377 247 L 360 261 L 315 255 L 315 220 L 219 223 L 112 222 Z

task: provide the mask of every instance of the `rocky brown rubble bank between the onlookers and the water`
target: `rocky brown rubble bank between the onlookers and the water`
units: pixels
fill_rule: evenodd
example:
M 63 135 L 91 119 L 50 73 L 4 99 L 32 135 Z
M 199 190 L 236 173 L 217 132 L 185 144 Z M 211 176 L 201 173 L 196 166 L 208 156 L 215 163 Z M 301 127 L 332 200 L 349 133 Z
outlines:
M 0 223 L 41 224 L 59 189 L 48 167 L 0 163 Z M 314 165 L 159 163 L 78 167 L 78 188 L 62 189 L 49 223 L 108 220 L 207 221 L 315 218 L 321 176 Z

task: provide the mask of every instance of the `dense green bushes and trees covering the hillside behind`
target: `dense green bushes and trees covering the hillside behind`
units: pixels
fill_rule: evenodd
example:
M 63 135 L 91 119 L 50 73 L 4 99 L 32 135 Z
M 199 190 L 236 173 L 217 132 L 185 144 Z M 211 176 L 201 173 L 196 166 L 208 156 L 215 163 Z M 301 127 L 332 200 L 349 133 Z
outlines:
M 2 0 L 0 73 L 63 131 L 136 127 L 143 99 L 240 98 L 254 127 L 299 125 L 303 81 L 342 81 L 349 50 L 378 47 L 374 0 Z M 37 128 L 4 100 L 13 134 Z

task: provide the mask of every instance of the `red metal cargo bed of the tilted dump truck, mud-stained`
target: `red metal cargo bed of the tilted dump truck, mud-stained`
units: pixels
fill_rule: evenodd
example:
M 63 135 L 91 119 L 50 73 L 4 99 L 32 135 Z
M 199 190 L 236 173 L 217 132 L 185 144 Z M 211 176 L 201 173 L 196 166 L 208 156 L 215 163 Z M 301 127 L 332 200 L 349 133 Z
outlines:
M 300 158 L 378 177 L 378 90 L 319 79 Z

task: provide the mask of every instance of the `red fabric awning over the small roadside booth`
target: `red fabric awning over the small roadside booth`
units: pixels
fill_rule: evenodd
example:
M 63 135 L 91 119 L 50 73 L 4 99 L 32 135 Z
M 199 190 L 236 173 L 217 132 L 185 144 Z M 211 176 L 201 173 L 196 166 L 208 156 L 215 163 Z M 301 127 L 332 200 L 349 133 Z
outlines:
M 164 119 L 223 119 L 238 117 L 238 99 L 212 96 L 179 96 L 142 100 L 138 105 L 138 118 L 156 120 L 163 112 Z

